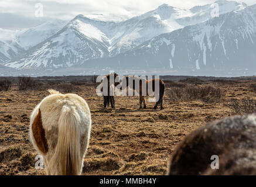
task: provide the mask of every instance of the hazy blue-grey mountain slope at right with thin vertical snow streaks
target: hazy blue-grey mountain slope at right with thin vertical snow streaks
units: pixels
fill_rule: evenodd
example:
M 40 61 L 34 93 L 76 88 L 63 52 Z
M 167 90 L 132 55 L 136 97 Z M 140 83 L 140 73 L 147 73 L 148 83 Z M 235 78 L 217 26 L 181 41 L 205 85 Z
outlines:
M 104 61 L 104 63 L 103 63 Z M 256 5 L 161 34 L 95 66 L 127 69 L 256 70 Z M 83 67 L 90 67 L 91 60 Z

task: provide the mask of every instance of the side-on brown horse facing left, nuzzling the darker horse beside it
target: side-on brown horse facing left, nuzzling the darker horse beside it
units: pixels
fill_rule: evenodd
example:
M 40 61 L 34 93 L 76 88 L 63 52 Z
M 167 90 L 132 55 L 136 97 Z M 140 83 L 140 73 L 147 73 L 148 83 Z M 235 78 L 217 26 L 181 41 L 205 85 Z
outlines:
M 129 76 L 127 76 L 125 78 L 126 78 L 126 84 L 127 84 L 127 85 L 125 85 L 125 87 L 127 87 L 127 86 L 129 86 L 129 82 L 128 82 L 129 81 Z M 136 91 L 135 81 L 139 81 L 139 91 L 136 91 L 136 92 L 139 92 L 139 104 L 140 104 L 139 108 L 140 109 L 142 108 L 142 103 L 144 103 L 144 109 L 146 109 L 145 96 L 142 95 L 142 85 L 143 85 L 142 82 L 145 83 L 145 85 L 146 85 L 146 96 L 149 95 L 149 93 L 148 93 L 148 87 L 149 86 L 148 85 L 152 83 L 152 91 L 155 92 L 155 82 L 159 82 L 159 99 L 156 102 L 153 109 L 156 109 L 158 107 L 158 105 L 160 104 L 161 105 L 161 110 L 162 110 L 163 109 L 163 93 L 165 93 L 165 84 L 164 84 L 164 82 L 161 79 L 146 80 L 146 79 L 141 79 L 141 78 L 136 77 L 136 76 L 132 76 L 131 78 L 133 78 L 132 79 L 132 81 L 133 81 L 132 89 L 134 91 Z M 122 84 L 124 84 L 124 82 Z

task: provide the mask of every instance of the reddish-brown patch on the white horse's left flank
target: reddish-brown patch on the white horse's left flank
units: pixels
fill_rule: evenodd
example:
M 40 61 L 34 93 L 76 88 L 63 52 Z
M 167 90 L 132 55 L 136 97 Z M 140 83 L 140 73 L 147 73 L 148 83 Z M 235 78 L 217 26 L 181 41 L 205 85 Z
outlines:
M 39 148 L 39 150 L 46 154 L 48 151 L 48 145 L 45 138 L 45 129 L 43 129 L 42 125 L 42 117 L 41 117 L 41 111 L 38 110 L 38 113 L 33 121 L 32 124 L 32 131 L 33 131 L 33 137 L 36 141 L 36 146 Z

